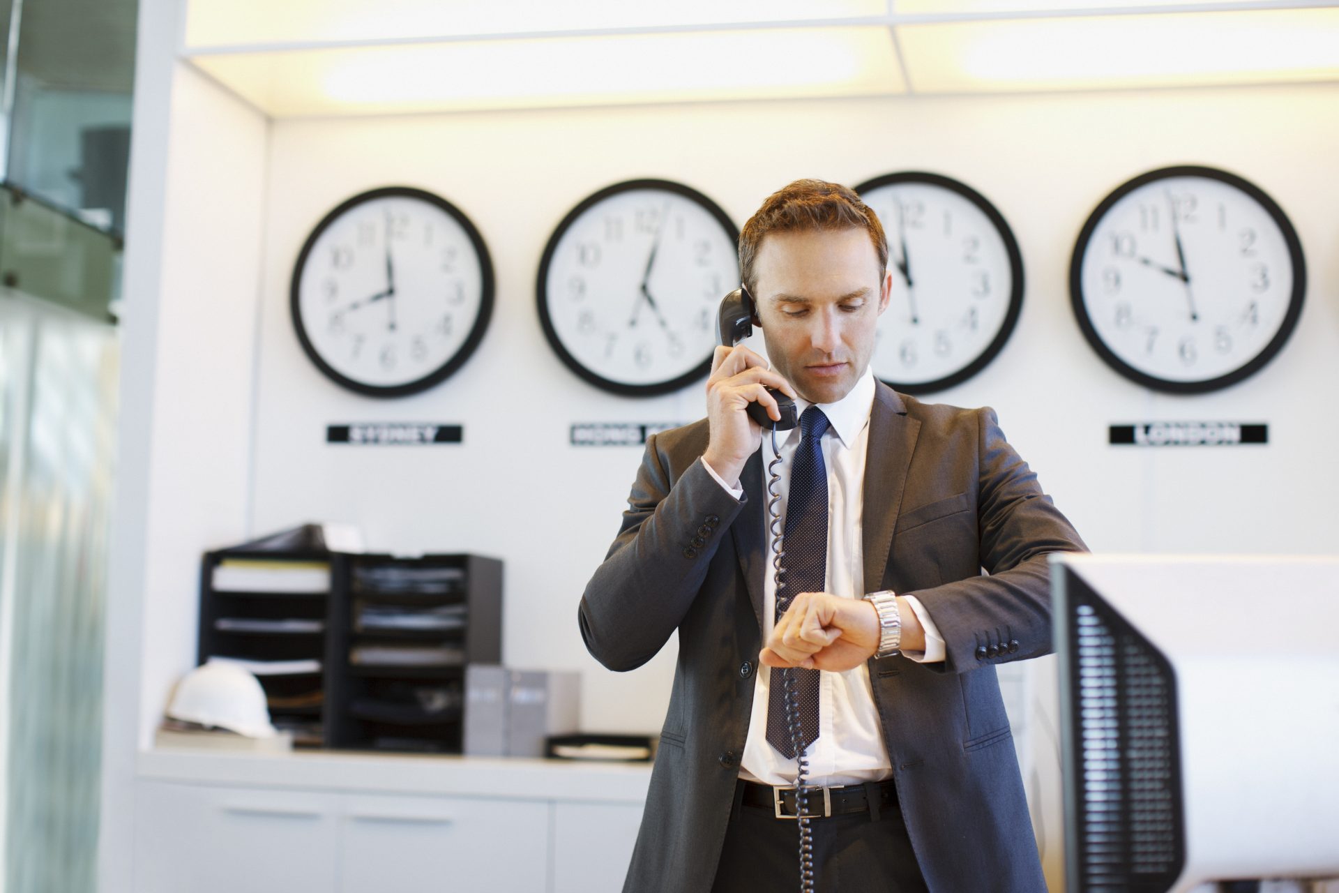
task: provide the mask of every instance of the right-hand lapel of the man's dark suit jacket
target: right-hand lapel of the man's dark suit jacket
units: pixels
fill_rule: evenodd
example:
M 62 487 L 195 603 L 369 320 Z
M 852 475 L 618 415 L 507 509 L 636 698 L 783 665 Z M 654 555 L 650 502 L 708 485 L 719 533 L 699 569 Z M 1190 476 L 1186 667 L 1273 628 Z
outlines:
M 865 457 L 865 505 L 861 548 L 865 552 L 865 592 L 884 585 L 888 553 L 893 545 L 893 527 L 902 505 L 907 471 L 920 422 L 907 415 L 907 406 L 882 382 L 874 384 L 874 404 L 869 414 L 869 449 Z

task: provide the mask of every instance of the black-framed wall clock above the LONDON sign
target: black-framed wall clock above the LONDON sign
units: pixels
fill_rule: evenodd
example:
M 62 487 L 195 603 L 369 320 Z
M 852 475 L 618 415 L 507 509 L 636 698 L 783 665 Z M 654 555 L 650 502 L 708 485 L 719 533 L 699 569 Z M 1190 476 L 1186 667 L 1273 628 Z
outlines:
M 1070 262 L 1083 337 L 1125 378 L 1172 394 L 1260 371 L 1296 327 L 1306 288 L 1283 209 L 1214 167 L 1162 167 L 1121 185 Z

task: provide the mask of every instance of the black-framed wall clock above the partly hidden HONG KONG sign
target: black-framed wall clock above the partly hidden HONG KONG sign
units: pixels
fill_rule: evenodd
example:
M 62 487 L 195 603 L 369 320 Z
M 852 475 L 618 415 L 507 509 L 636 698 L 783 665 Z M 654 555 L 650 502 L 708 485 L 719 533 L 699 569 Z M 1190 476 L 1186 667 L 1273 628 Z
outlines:
M 586 382 L 676 391 L 711 370 L 716 309 L 739 281 L 739 230 L 695 189 L 615 183 L 558 224 L 536 285 L 544 335 Z

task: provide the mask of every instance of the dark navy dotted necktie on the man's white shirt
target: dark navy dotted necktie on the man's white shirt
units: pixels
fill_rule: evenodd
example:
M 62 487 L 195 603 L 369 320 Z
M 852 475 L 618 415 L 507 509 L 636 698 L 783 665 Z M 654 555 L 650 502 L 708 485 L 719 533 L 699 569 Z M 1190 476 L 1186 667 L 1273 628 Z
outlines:
M 817 406 L 799 416 L 799 447 L 790 469 L 786 497 L 786 530 L 782 536 L 782 566 L 786 573 L 777 592 L 777 620 L 802 592 L 823 592 L 828 576 L 828 467 L 823 465 L 823 434 L 829 422 Z M 783 671 L 795 675 L 799 703 L 801 740 L 809 747 L 818 738 L 818 672 L 798 667 Z M 771 675 L 767 696 L 767 743 L 787 758 L 795 756 L 786 723 L 786 687 L 782 671 Z

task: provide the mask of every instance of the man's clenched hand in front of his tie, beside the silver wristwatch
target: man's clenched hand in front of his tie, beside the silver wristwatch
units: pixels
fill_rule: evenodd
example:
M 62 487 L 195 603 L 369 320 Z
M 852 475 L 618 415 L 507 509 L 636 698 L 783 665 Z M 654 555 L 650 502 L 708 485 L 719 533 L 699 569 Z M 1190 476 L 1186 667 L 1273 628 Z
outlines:
M 767 667 L 842 672 L 878 651 L 878 612 L 864 598 L 802 592 L 771 631 L 759 659 Z

